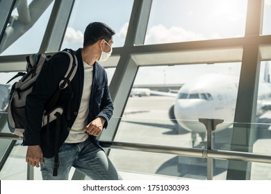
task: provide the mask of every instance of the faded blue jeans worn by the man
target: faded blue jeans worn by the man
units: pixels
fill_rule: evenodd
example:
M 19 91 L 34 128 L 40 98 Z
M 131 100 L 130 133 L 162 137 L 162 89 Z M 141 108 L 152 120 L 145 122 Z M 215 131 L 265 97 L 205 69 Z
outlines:
M 64 143 L 58 155 L 58 176 L 53 176 L 54 157 L 44 158 L 44 163 L 40 167 L 42 179 L 67 180 L 69 179 L 69 170 L 72 166 L 90 177 L 90 179 L 122 179 L 110 159 L 106 156 L 104 150 L 94 145 L 90 139 L 82 143 Z

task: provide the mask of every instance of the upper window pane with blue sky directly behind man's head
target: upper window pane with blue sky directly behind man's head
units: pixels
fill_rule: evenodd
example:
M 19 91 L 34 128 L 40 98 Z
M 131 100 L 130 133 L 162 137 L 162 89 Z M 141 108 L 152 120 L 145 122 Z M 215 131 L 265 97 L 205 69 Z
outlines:
M 75 1 L 61 49 L 82 47 L 85 27 L 93 21 L 104 22 L 113 28 L 116 32 L 113 47 L 123 46 L 132 7 L 132 0 Z

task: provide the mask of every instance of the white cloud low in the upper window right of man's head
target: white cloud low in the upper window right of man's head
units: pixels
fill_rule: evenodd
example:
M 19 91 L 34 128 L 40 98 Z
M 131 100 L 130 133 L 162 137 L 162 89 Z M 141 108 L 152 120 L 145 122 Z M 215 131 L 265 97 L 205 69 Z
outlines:
M 149 33 L 146 35 L 146 44 L 165 43 L 165 42 L 185 42 L 192 40 L 206 39 L 199 33 L 194 33 L 185 30 L 181 27 L 172 26 L 171 28 L 165 28 L 165 26 L 159 24 L 152 26 Z

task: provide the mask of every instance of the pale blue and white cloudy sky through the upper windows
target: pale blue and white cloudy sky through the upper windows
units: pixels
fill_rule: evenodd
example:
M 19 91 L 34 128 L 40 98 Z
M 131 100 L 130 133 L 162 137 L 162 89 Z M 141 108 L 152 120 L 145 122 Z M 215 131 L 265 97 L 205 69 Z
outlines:
M 36 31 L 42 32 L 42 30 L 45 30 L 46 25 L 44 24 L 47 24 L 52 5 L 28 33 L 25 33 L 21 39 L 1 55 L 38 52 L 43 33 L 36 33 Z M 94 0 L 75 1 L 62 48 L 76 49 L 81 47 L 85 26 L 91 21 L 102 21 L 111 26 L 116 31 L 113 47 L 123 46 L 132 6 L 132 0 L 100 0 L 99 4 Z M 246 0 L 154 0 L 151 7 L 145 44 L 243 37 L 245 35 L 246 10 Z M 16 10 L 13 14 L 17 14 Z M 265 0 L 263 35 L 271 34 L 271 25 L 268 25 L 270 24 L 270 18 L 271 0 Z M 34 43 L 28 43 L 27 46 L 29 47 L 26 47 L 26 40 L 28 42 L 31 40 Z M 218 66 L 220 66 L 220 73 L 222 70 L 223 73 L 229 72 L 229 74 L 238 76 L 240 72 L 240 63 L 220 64 Z M 150 82 L 150 80 L 150 84 L 183 83 L 186 82 L 188 77 L 196 76 L 197 73 L 217 72 L 217 68 L 207 64 L 200 64 L 196 67 L 140 68 L 135 84 Z M 155 73 L 151 69 L 156 69 Z M 191 71 L 191 69 L 193 70 Z M 113 76 L 113 71 L 114 69 L 108 70 L 109 78 Z M 1 73 L 1 78 L 3 77 L 6 76 L 3 76 L 3 73 Z M 0 83 L 3 83 L 1 80 Z

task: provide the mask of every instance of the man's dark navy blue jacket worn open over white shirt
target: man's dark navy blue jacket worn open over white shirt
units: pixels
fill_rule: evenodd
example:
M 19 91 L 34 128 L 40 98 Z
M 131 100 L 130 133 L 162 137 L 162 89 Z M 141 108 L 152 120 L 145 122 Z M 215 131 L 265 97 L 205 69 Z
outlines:
M 81 48 L 76 51 L 78 68 L 71 82 L 71 87 L 66 87 L 60 94 L 56 106 L 63 107 L 61 115 L 60 139 L 58 149 L 67 139 L 69 130 L 76 119 L 83 93 L 84 69 L 81 55 Z M 49 124 L 49 133 L 46 125 L 42 127 L 42 115 L 44 107 L 58 89 L 60 80 L 64 77 L 68 65 L 69 57 L 65 54 L 56 54 L 51 57 L 47 64 L 44 64 L 38 76 L 31 94 L 26 98 L 26 129 L 24 135 L 24 145 L 40 145 L 44 157 L 54 157 L 56 121 Z M 70 100 L 70 103 L 69 103 Z M 69 108 L 68 108 L 69 107 Z M 70 119 L 67 118 L 70 109 Z M 89 103 L 88 123 L 98 116 L 106 119 L 104 127 L 113 114 L 113 103 L 108 88 L 108 78 L 106 71 L 98 62 L 93 67 L 92 91 Z M 49 135 L 49 136 L 48 136 Z M 90 136 L 93 143 L 99 146 L 95 136 Z

